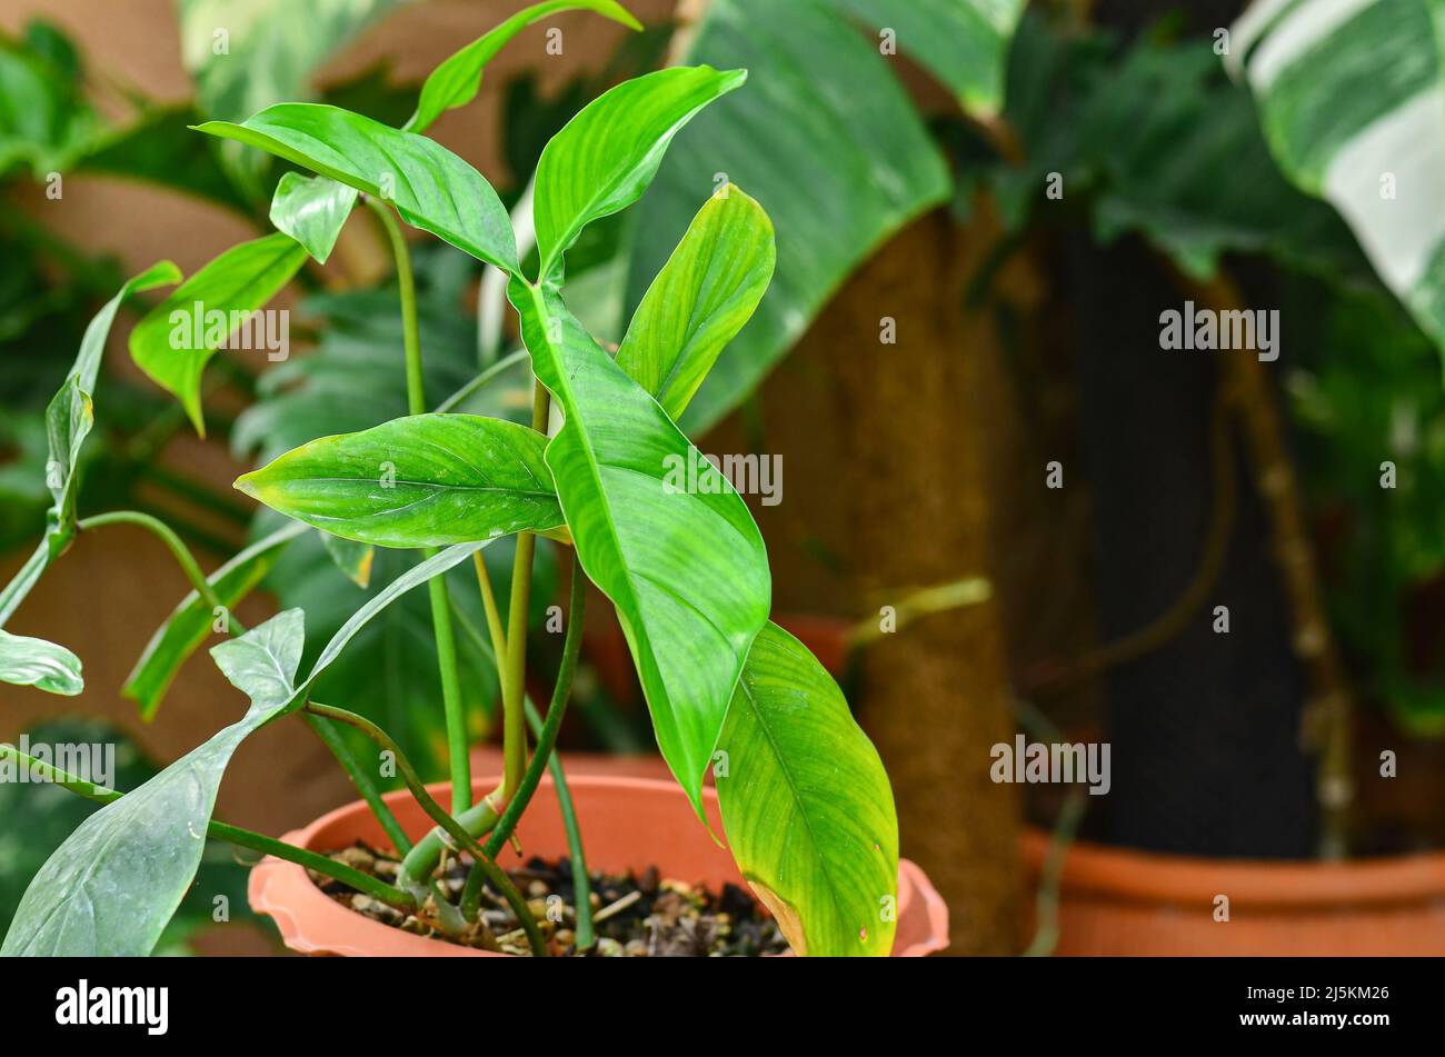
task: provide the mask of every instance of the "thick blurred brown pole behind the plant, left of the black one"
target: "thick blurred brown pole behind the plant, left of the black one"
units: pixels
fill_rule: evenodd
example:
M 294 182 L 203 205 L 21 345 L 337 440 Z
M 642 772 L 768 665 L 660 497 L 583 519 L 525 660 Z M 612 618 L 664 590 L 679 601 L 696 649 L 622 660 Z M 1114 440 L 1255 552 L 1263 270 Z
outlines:
M 965 318 L 967 234 L 931 215 L 850 282 L 799 355 L 841 423 L 834 455 L 854 589 L 896 605 L 916 588 L 987 575 L 988 490 L 975 409 L 985 325 Z M 886 321 L 896 344 L 884 344 Z M 1019 950 L 1019 807 L 988 777 L 1014 734 L 994 602 L 880 635 L 861 657 L 861 721 L 897 797 L 903 853 L 938 885 L 954 954 Z

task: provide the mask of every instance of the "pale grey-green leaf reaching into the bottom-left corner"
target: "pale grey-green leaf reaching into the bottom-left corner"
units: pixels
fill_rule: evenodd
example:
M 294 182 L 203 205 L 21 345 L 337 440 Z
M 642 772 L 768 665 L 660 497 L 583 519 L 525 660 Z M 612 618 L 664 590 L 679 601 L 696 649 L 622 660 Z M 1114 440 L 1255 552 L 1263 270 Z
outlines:
M 201 865 L 231 755 L 292 700 L 302 621 L 299 609 L 288 609 L 212 650 L 225 677 L 251 697 L 250 709 L 82 822 L 30 881 L 0 956 L 150 953 Z

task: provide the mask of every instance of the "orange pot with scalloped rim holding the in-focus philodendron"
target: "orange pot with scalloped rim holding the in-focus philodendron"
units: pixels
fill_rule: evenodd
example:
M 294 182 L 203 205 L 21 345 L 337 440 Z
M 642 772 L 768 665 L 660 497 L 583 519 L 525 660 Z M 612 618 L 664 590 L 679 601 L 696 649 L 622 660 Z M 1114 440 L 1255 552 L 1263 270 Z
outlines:
M 496 786 L 496 778 L 480 778 L 474 790 L 480 797 Z M 587 864 L 591 869 L 642 871 L 656 865 L 665 877 L 718 888 L 724 882 L 743 884 L 733 856 L 718 848 L 698 825 L 686 796 L 676 783 L 620 775 L 568 775 L 577 804 Z M 449 787 L 431 786 L 445 801 Z M 405 790 L 390 793 L 387 804 L 413 838 L 431 829 L 431 819 Z M 714 829 L 721 833 L 717 793 L 704 790 L 704 806 Z M 532 806 L 517 827 L 527 856 L 566 855 L 566 835 L 556 807 L 556 790 L 543 780 Z M 384 843 L 376 819 L 361 801 L 338 807 L 305 829 L 288 833 L 288 842 L 312 851 L 345 848 L 360 839 Z M 506 865 L 506 864 L 503 864 Z M 483 950 L 460 947 L 403 933 L 347 910 L 316 888 L 306 872 L 290 862 L 264 859 L 251 871 L 249 897 L 251 910 L 269 914 L 292 950 L 305 954 L 415 956 L 415 957 L 504 957 Z M 948 946 L 948 908 L 916 865 L 899 864 L 899 927 L 894 957 L 922 957 Z

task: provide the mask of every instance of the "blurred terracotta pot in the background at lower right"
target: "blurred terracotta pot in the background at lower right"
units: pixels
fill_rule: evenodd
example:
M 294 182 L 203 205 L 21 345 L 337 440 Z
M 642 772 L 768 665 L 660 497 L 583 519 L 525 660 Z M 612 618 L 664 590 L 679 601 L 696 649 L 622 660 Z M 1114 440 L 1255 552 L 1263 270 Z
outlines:
M 1036 885 L 1049 835 L 1022 852 Z M 1230 920 L 1215 921 L 1227 895 Z M 1155 855 L 1075 842 L 1058 954 L 1445 954 L 1445 853 L 1348 864 Z

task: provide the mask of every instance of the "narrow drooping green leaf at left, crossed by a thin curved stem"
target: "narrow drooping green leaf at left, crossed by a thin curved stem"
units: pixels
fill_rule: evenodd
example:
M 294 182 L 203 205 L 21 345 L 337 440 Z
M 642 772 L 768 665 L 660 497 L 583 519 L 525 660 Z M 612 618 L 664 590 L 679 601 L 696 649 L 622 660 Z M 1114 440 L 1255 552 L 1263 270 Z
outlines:
M 305 526 L 288 524 L 266 539 L 257 540 L 207 578 L 215 596 L 227 609 L 234 609 L 241 599 L 276 565 L 286 544 L 306 531 Z M 150 637 L 140 660 L 126 679 L 121 693 L 140 705 L 140 716 L 150 722 L 165 699 L 171 682 L 186 658 L 211 634 L 215 614 L 201 596 L 192 591 L 181 599 L 166 622 Z

